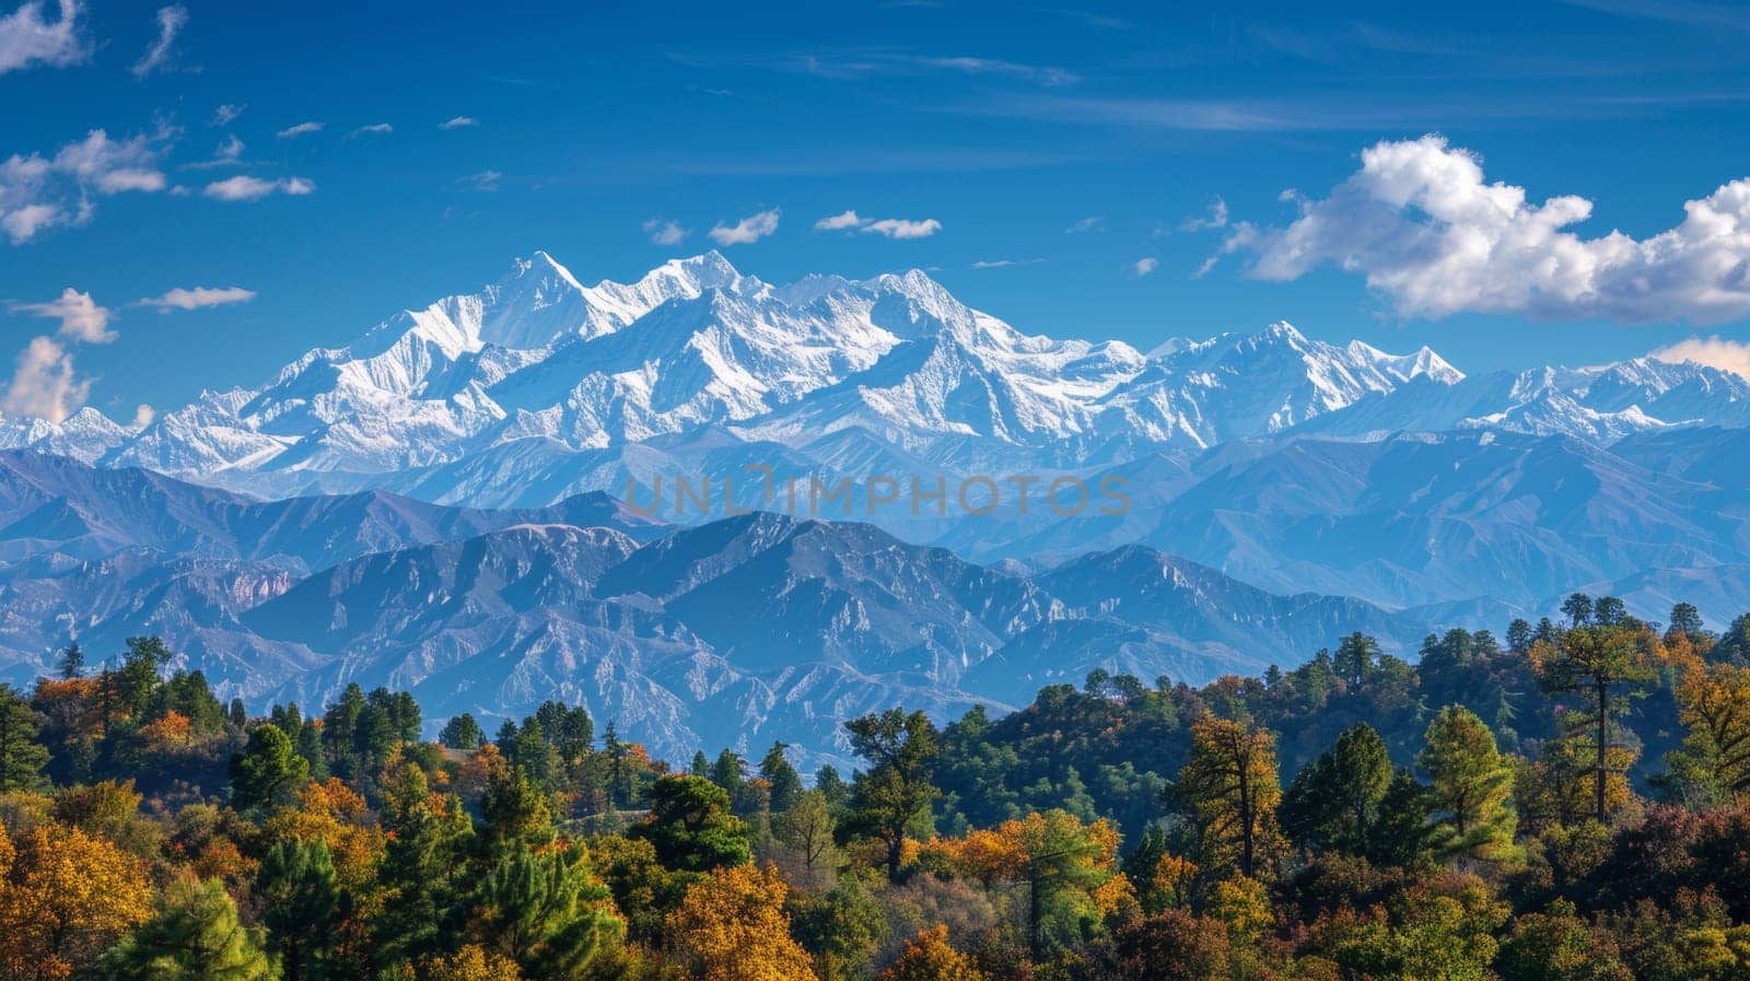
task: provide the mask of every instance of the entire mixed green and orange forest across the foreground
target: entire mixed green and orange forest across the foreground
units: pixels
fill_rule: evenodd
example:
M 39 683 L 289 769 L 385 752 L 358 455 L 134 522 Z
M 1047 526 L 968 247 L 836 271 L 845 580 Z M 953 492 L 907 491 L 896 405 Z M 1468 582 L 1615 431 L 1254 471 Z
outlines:
M 894 706 L 812 775 L 94 657 L 0 685 L 0 981 L 1750 979 L 1750 616 L 1689 603 Z

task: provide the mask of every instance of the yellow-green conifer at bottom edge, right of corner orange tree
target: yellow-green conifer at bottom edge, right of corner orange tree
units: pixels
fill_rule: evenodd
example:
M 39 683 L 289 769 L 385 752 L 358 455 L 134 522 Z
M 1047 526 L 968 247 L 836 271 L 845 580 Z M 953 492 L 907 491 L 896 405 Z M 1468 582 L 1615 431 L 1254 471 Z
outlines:
M 114 981 L 273 981 L 278 972 L 259 930 L 238 922 L 217 881 L 184 880 L 164 890 L 158 915 L 103 955 Z

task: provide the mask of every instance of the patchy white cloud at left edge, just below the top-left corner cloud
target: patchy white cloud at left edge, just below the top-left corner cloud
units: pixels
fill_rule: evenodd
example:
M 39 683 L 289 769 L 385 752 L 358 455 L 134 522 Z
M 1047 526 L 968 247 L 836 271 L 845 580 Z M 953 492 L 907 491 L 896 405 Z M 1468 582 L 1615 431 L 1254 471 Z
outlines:
M 164 187 L 154 140 L 110 140 L 93 129 L 52 157 L 14 154 L 0 161 L 0 233 L 23 245 L 44 229 L 89 222 L 96 198 Z

